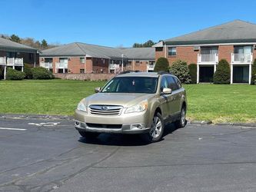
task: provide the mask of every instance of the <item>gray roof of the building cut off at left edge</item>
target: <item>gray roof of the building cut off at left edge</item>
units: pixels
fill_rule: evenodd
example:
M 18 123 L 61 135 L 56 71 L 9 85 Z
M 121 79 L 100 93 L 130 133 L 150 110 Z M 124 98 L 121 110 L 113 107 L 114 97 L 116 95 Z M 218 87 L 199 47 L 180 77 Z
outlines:
M 0 38 L 0 49 L 5 51 L 37 51 L 36 48 L 31 48 L 5 38 Z

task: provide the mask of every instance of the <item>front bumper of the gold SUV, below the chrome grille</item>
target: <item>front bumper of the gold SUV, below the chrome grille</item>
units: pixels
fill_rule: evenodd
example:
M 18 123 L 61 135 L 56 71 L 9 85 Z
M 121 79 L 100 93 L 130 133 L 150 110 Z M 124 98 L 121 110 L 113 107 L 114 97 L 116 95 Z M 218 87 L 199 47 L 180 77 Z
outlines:
M 98 133 L 144 134 L 151 129 L 151 121 L 148 121 L 148 119 L 148 111 L 106 116 L 76 110 L 75 128 L 78 131 Z

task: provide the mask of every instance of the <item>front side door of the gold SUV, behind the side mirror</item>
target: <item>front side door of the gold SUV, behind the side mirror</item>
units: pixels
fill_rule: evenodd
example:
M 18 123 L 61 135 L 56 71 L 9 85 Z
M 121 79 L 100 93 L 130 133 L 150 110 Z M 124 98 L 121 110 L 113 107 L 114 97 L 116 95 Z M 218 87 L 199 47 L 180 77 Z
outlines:
M 165 76 L 161 78 L 160 91 L 162 92 L 164 88 L 168 88 L 168 80 Z M 162 117 L 166 120 L 171 113 L 171 94 L 161 94 L 159 102 L 161 103 Z

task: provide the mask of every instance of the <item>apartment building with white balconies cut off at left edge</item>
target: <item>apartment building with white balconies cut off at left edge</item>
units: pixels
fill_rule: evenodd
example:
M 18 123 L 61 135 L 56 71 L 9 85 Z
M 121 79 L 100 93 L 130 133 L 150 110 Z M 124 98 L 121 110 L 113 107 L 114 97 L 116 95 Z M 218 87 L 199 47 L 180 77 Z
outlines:
M 6 68 L 23 71 L 24 64 L 35 67 L 39 64 L 38 50 L 0 38 L 0 79 L 5 79 Z

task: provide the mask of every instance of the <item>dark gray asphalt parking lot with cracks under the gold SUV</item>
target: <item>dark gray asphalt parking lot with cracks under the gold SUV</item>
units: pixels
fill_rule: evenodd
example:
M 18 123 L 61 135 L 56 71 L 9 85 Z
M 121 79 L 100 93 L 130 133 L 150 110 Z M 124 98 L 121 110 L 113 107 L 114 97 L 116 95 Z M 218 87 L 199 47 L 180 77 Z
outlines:
M 0 191 L 256 191 L 256 128 L 191 125 L 145 144 L 73 121 L 0 118 Z

